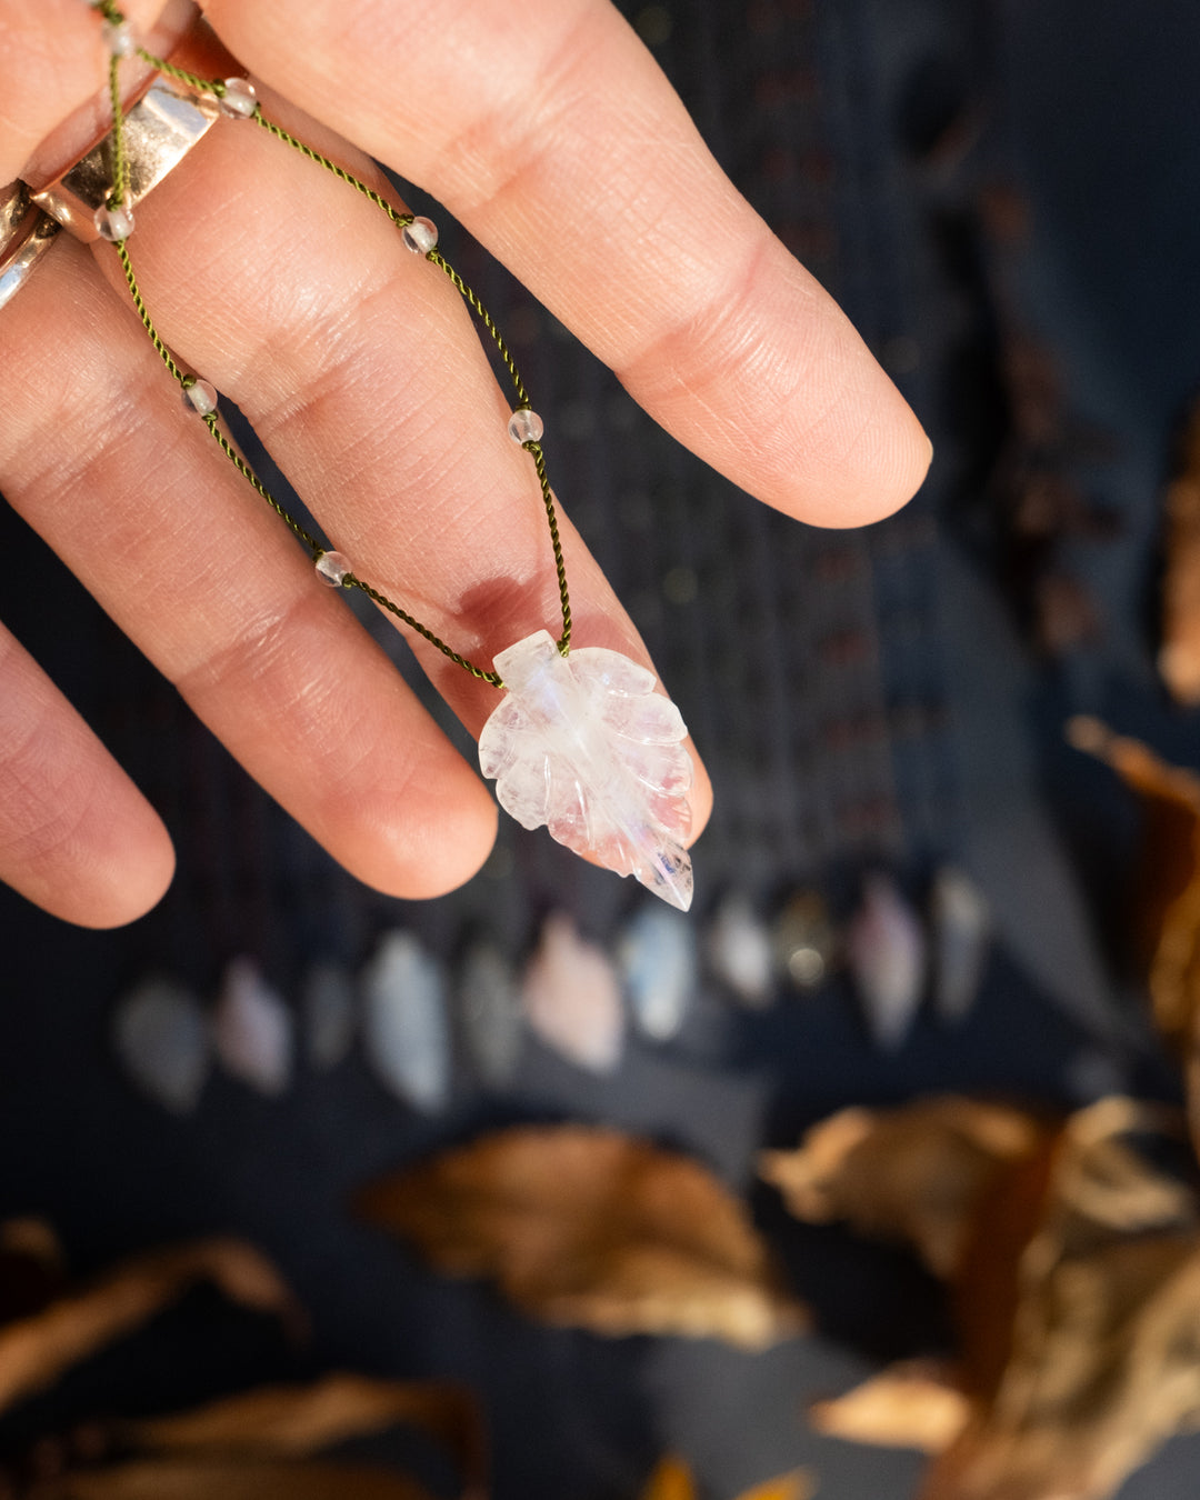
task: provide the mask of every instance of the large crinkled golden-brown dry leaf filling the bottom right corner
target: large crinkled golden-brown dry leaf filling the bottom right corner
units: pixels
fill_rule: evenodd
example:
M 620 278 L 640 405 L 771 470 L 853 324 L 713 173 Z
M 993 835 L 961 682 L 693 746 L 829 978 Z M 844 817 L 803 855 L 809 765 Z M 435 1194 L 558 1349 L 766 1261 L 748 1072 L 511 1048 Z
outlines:
M 1016 1204 L 1029 1230 L 988 1240 L 980 1226 L 958 1288 L 960 1310 L 976 1310 L 963 1368 L 970 1419 L 922 1500 L 1108 1500 L 1200 1418 L 1200 1240 L 1179 1227 L 1194 1203 L 1122 1138 L 1161 1116 L 1130 1100 L 1071 1116 L 1035 1212 L 1028 1196 Z M 992 1208 L 1011 1216 L 1014 1200 Z M 981 1305 L 1005 1318 L 1004 1342 L 993 1328 L 978 1336 Z

